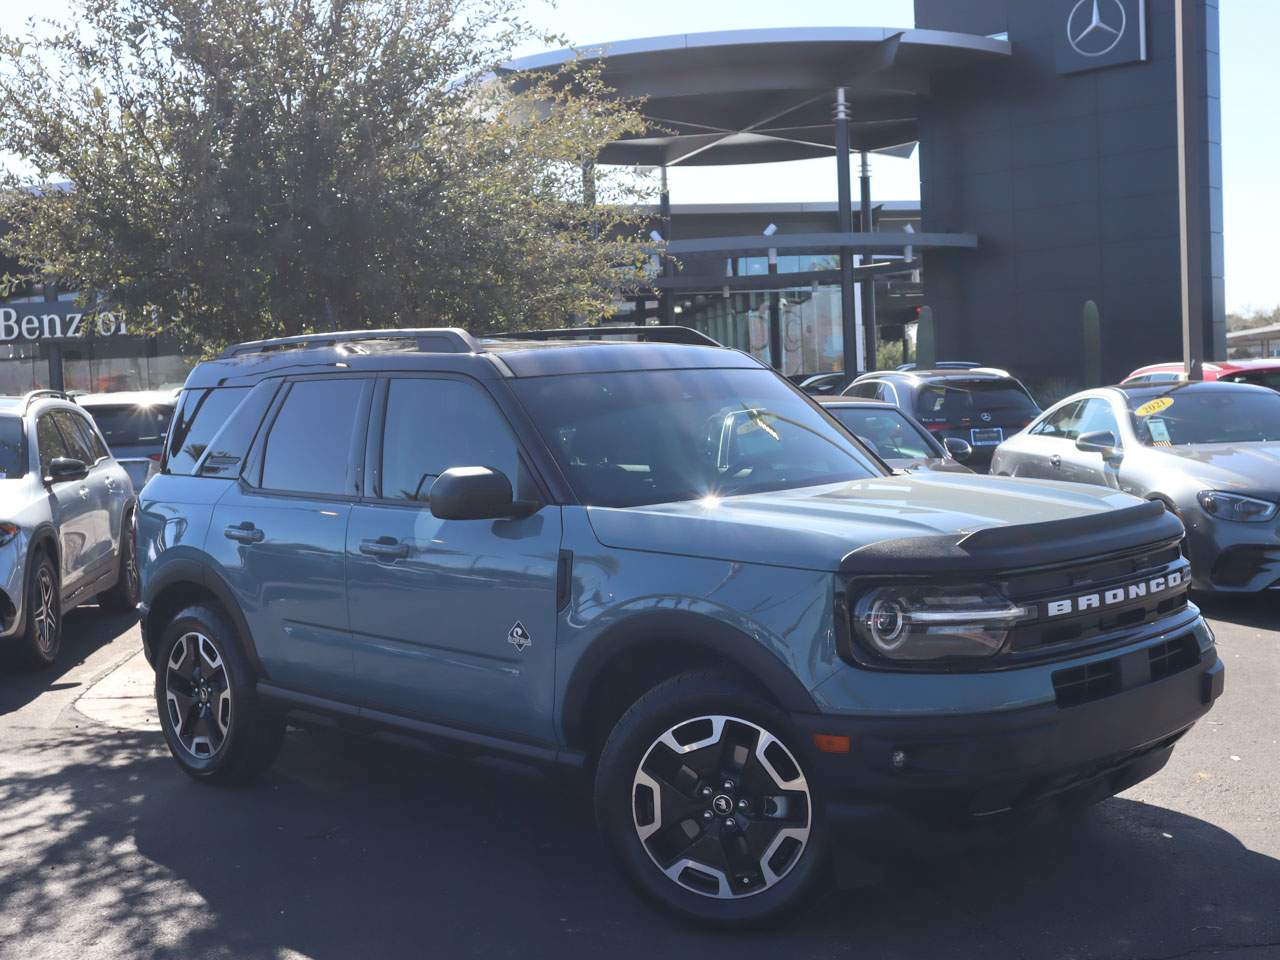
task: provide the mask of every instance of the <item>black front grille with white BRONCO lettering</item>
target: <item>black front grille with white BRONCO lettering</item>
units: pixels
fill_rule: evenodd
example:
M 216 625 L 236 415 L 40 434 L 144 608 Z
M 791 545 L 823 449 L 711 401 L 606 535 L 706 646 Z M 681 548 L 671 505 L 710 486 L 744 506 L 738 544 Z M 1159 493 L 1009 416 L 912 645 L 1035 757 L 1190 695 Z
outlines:
M 1176 588 L 1149 590 L 1152 582 L 1170 575 L 1180 577 Z M 1181 548 L 1171 544 L 1012 576 L 1001 586 L 1010 599 L 1036 611 L 1033 620 L 1010 631 L 1006 655 L 1056 659 L 1110 637 L 1123 643 L 1129 628 L 1185 609 L 1190 567 Z M 1120 599 L 1107 602 L 1108 593 Z M 1052 604 L 1062 603 L 1062 598 L 1075 602 L 1093 596 L 1098 598 L 1096 605 L 1051 614 Z

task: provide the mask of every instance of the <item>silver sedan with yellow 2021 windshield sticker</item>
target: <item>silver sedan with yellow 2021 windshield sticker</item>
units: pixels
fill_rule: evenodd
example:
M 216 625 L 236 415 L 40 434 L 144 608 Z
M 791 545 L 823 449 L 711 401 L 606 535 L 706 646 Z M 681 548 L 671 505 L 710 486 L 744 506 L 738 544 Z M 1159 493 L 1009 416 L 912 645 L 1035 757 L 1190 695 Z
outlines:
M 1280 393 L 1228 383 L 1107 387 L 1050 407 L 991 472 L 1164 500 L 1187 526 L 1193 585 L 1280 586 Z

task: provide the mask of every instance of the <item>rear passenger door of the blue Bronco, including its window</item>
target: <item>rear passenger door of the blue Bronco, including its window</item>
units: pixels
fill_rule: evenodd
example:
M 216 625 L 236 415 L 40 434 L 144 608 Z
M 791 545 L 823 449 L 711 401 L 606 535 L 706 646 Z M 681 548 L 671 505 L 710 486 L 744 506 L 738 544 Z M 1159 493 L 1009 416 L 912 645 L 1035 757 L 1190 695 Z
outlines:
M 347 622 L 347 524 L 374 380 L 288 384 L 241 481 L 218 502 L 206 550 L 248 622 L 268 681 L 357 704 Z

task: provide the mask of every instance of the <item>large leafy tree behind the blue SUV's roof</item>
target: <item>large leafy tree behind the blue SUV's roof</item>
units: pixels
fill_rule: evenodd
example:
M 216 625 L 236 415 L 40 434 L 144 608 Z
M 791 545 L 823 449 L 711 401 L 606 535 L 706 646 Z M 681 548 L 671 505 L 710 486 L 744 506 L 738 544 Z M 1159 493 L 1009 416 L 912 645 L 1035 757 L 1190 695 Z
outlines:
M 0 40 L 32 169 L 0 253 L 131 329 L 548 325 L 640 275 L 634 184 L 582 173 L 640 115 L 584 64 L 495 70 L 535 36 L 517 0 L 76 3 Z

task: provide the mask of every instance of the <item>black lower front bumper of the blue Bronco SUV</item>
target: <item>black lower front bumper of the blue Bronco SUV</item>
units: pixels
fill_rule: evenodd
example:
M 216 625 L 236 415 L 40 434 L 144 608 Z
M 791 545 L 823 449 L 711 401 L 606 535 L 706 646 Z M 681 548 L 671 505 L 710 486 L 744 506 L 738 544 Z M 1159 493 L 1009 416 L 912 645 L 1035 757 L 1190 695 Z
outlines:
M 1222 663 L 1211 643 L 1196 641 L 1207 636 L 1202 621 L 1194 627 L 1172 666 L 1160 659 L 1164 637 L 1094 658 L 1091 664 L 1114 669 L 1115 689 L 1098 687 L 1096 699 L 1076 705 L 795 717 L 805 733 L 850 739 L 850 753 L 815 753 L 813 760 L 833 827 L 867 837 L 893 833 L 886 820 L 952 828 L 995 822 L 1082 794 L 1102 799 L 1149 777 L 1222 692 Z

